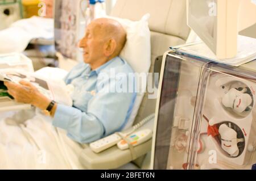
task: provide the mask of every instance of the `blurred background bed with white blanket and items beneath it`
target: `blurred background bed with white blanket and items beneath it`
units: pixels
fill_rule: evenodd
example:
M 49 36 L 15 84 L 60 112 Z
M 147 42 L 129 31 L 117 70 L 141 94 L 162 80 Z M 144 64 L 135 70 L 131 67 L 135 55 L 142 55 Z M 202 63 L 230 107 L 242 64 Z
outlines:
M 38 70 L 54 64 L 53 36 L 53 19 L 32 16 L 17 20 L 0 31 L 0 54 L 23 52 Z

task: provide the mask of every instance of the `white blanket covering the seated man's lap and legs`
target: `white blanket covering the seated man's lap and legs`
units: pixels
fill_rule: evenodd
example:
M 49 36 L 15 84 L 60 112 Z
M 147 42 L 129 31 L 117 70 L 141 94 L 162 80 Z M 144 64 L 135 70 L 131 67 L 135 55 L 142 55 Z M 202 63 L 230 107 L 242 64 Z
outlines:
M 0 117 L 0 169 L 83 169 L 82 146 L 53 127 L 50 117 L 38 110 Z

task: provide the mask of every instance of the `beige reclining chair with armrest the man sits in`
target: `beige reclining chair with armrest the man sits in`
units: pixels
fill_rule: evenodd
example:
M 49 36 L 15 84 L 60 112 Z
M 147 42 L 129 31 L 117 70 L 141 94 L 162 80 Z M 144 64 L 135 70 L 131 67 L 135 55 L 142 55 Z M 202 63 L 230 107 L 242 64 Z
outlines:
M 185 0 L 118 0 L 115 4 L 112 16 L 139 20 L 150 13 L 149 27 L 151 31 L 151 68 L 150 73 L 159 73 L 162 56 L 169 47 L 184 44 L 189 35 L 189 27 L 186 22 Z M 154 71 L 155 70 L 155 71 Z M 148 77 L 152 81 L 152 77 Z M 156 99 L 148 99 L 148 92 L 139 108 L 134 124 L 155 112 Z M 153 130 L 154 119 L 143 128 Z M 119 150 L 117 146 L 94 153 L 90 148 L 84 149 L 80 155 L 81 162 L 86 169 L 149 169 L 150 150 L 152 139 L 134 147 L 134 153 L 130 150 Z M 146 157 L 145 157 L 146 156 Z M 133 162 L 137 167 L 133 167 Z M 127 165 L 127 163 L 129 163 Z M 125 166 L 124 166 L 125 165 Z M 121 167 L 122 166 L 122 167 Z

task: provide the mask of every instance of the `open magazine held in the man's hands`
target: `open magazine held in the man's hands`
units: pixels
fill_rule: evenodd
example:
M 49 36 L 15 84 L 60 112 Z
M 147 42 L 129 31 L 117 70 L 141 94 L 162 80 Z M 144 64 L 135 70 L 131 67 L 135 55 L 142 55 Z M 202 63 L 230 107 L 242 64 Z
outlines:
M 72 99 L 68 94 L 67 87 L 62 80 L 48 80 L 39 77 L 35 73 L 27 73 L 21 70 L 2 69 L 0 70 L 0 97 L 11 96 L 7 93 L 3 81 L 19 83 L 20 80 L 31 82 L 43 95 L 57 103 L 72 106 Z

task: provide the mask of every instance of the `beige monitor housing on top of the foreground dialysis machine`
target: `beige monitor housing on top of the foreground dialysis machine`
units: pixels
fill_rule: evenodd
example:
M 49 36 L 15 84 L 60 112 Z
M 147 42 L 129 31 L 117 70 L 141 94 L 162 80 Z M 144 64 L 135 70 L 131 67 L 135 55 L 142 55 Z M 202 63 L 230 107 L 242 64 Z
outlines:
M 238 32 L 256 23 L 252 0 L 187 0 L 187 24 L 219 59 L 233 58 Z

